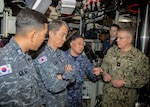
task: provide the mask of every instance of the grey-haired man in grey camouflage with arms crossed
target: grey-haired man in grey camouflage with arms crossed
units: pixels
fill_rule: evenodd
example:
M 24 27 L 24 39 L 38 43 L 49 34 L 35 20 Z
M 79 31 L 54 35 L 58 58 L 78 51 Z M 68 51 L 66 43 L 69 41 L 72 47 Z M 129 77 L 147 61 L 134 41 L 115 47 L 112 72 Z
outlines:
M 52 21 L 48 42 L 35 59 L 46 107 L 68 107 L 67 85 L 75 80 L 75 71 L 65 53 L 58 49 L 66 41 L 68 30 L 64 21 Z

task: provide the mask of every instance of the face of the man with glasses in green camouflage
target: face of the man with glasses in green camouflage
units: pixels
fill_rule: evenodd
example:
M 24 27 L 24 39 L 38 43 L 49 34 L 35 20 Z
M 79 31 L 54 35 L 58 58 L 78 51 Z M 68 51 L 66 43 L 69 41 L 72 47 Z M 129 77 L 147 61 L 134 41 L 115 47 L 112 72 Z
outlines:
M 126 31 L 119 31 L 117 33 L 117 45 L 120 49 L 126 49 L 126 47 L 132 44 L 132 38 Z

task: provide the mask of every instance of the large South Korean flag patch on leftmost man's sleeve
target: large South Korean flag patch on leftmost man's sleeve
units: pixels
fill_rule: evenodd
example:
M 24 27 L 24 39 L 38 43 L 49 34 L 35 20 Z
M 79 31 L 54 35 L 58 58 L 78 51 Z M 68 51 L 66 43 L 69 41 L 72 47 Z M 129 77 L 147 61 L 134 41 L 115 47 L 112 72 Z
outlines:
M 0 66 L 0 76 L 11 74 L 11 73 L 12 73 L 12 69 L 10 64 Z

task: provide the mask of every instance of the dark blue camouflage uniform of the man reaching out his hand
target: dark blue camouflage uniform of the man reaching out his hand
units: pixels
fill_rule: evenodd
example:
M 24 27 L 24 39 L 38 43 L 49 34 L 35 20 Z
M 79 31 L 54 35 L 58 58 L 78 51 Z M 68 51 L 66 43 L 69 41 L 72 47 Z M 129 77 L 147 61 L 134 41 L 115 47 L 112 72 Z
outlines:
M 85 55 L 79 55 L 73 57 L 70 54 L 70 49 L 66 51 L 66 55 L 69 61 L 75 66 L 76 70 L 76 82 L 68 86 L 68 100 L 69 107 L 82 107 L 82 84 L 84 82 L 85 75 L 91 79 L 96 79 L 93 74 L 94 65 Z

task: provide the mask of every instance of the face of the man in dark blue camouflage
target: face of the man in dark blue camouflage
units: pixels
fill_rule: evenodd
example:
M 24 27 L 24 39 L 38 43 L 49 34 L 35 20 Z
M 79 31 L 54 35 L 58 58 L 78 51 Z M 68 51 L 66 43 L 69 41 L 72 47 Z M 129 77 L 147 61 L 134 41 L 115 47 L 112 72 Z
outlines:
M 72 41 L 70 43 L 71 50 L 76 54 L 79 55 L 84 50 L 84 39 L 83 38 L 77 38 L 76 40 Z

